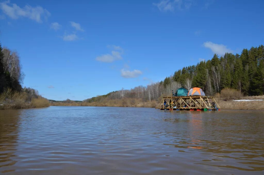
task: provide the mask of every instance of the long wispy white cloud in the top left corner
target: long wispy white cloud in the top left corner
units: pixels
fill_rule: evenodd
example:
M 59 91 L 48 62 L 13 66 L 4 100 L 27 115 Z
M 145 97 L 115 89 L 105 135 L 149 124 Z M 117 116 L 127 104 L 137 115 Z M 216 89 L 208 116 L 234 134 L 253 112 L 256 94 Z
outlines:
M 17 4 L 11 4 L 10 1 L 1 2 L 0 8 L 4 14 L 12 19 L 26 17 L 37 22 L 42 22 L 42 17 L 47 19 L 50 16 L 50 12 L 40 6 L 31 7 L 26 5 L 21 8 Z

